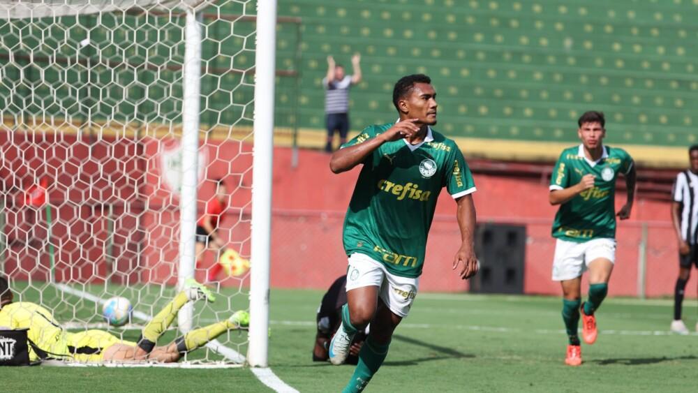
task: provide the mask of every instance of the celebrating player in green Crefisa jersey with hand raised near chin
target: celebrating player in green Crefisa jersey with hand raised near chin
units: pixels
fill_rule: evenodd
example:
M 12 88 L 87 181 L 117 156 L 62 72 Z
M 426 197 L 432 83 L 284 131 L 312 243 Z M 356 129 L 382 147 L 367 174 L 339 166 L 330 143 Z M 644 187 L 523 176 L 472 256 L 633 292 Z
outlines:
M 362 164 L 344 221 L 349 257 L 342 324 L 329 359 L 342 364 L 359 329 L 371 323 L 359 364 L 343 392 L 361 392 L 383 364 L 395 327 L 410 311 L 424 264 L 426 237 L 441 188 L 456 200 L 461 245 L 453 258 L 460 276 L 477 272 L 473 251 L 475 191 L 470 169 L 454 141 L 434 131 L 436 91 L 426 75 L 408 75 L 393 90 L 395 123 L 369 126 L 335 151 L 340 173 Z

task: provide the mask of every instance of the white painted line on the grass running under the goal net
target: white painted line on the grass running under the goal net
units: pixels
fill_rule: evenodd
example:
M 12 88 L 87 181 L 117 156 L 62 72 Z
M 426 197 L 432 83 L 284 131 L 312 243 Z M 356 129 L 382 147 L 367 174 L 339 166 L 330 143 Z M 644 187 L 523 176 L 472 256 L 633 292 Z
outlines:
M 106 300 L 101 299 L 98 296 L 92 295 L 89 292 L 85 292 L 84 290 L 77 290 L 75 288 L 70 288 L 70 286 L 66 286 L 66 284 L 53 284 L 58 290 L 61 290 L 62 292 L 66 292 L 70 295 L 75 295 L 77 297 L 82 297 L 83 299 L 87 299 L 91 302 L 94 302 L 96 304 L 105 304 Z M 149 322 L 152 318 L 146 314 L 143 313 L 142 311 L 133 311 L 133 317 L 138 318 L 139 320 L 142 320 L 143 322 Z M 235 362 L 236 364 L 244 364 L 245 362 L 245 357 L 237 352 L 236 350 L 233 350 L 232 348 L 228 348 L 226 346 L 223 346 L 223 344 L 218 341 L 218 340 L 211 340 L 209 343 L 206 344 L 207 348 L 210 348 L 211 350 L 214 350 L 217 353 L 220 353 L 221 355 L 227 357 L 230 359 L 232 362 Z M 124 364 L 124 366 L 133 366 L 133 364 Z M 259 369 L 255 369 L 254 367 L 251 367 L 251 371 L 254 374 L 254 376 L 260 380 L 261 383 L 265 384 L 267 387 L 270 389 L 274 390 L 275 392 L 278 393 L 298 393 L 297 390 L 294 388 L 290 387 L 290 385 L 286 384 L 274 374 L 274 371 L 270 369 L 269 367 L 263 367 Z

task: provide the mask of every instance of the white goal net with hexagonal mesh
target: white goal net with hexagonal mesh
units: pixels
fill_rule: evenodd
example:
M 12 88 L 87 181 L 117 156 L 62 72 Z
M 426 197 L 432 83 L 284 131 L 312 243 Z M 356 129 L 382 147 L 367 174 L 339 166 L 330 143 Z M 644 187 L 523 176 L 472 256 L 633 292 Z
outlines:
M 255 71 L 263 76 L 256 7 L 0 1 L 0 272 L 15 302 L 43 306 L 69 332 L 104 329 L 136 341 L 187 278 L 206 281 L 221 251 L 232 250 L 252 258 L 251 271 L 211 277 L 216 301 L 184 306 L 158 345 L 249 310 L 265 365 L 268 311 L 254 304 L 267 302 L 268 256 L 255 257 L 251 235 L 253 135 L 270 146 L 253 133 Z M 271 59 L 273 97 L 273 50 Z M 256 116 L 270 111 L 273 99 Z M 216 196 L 219 180 L 225 193 Z M 200 251 L 196 226 L 206 227 L 200 219 L 212 200 L 224 209 L 215 236 L 223 249 Z M 258 249 L 269 246 L 266 224 Z M 255 300 L 255 290 L 264 298 Z M 124 326 L 103 318 L 112 297 L 133 306 Z M 246 330 L 209 339 L 180 362 L 244 362 Z

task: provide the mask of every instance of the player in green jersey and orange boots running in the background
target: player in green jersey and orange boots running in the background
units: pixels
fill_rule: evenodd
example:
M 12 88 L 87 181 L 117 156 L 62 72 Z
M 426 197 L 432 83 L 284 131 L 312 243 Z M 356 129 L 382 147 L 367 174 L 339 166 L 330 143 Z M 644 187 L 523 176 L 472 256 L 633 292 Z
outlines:
M 560 205 L 552 234 L 556 237 L 553 280 L 563 288 L 563 320 L 569 336 L 565 363 L 581 364 L 577 336 L 579 315 L 582 336 L 596 341 L 596 311 L 608 292 L 616 259 L 616 216 L 630 217 L 635 191 L 635 168 L 623 149 L 605 146 L 606 123 L 602 112 L 579 118 L 579 146 L 563 150 L 550 180 L 551 205 Z M 625 175 L 628 200 L 615 214 L 616 178 Z M 581 302 L 581 274 L 589 271 L 589 295 Z M 581 306 L 581 308 L 580 308 Z

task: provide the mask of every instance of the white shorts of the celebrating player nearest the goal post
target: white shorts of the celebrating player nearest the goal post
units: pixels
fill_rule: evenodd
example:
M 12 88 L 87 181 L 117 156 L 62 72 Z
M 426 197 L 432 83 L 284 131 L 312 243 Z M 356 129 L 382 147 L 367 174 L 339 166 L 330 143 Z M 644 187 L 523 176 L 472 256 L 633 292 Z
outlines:
M 405 318 L 417 296 L 419 277 L 401 277 L 391 274 L 383 263 L 369 255 L 353 253 L 347 270 L 347 292 L 352 289 L 377 286 L 378 296 L 388 309 Z

